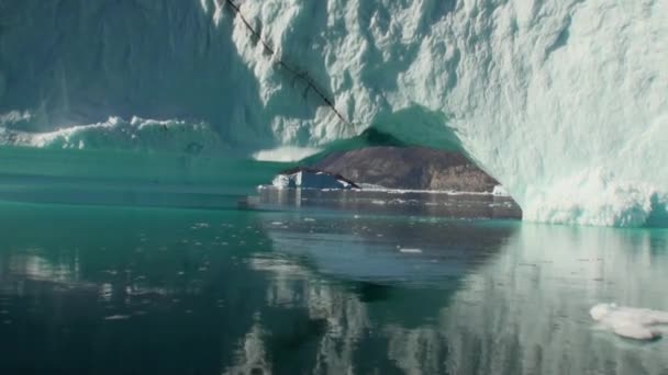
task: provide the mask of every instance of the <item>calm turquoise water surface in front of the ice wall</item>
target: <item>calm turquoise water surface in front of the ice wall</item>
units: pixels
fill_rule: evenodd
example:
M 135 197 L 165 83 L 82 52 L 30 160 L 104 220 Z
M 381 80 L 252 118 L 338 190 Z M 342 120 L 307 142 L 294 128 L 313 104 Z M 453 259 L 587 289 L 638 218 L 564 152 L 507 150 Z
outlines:
M 668 374 L 588 312 L 668 310 L 668 230 L 237 209 L 277 166 L 3 152 L 2 374 Z

